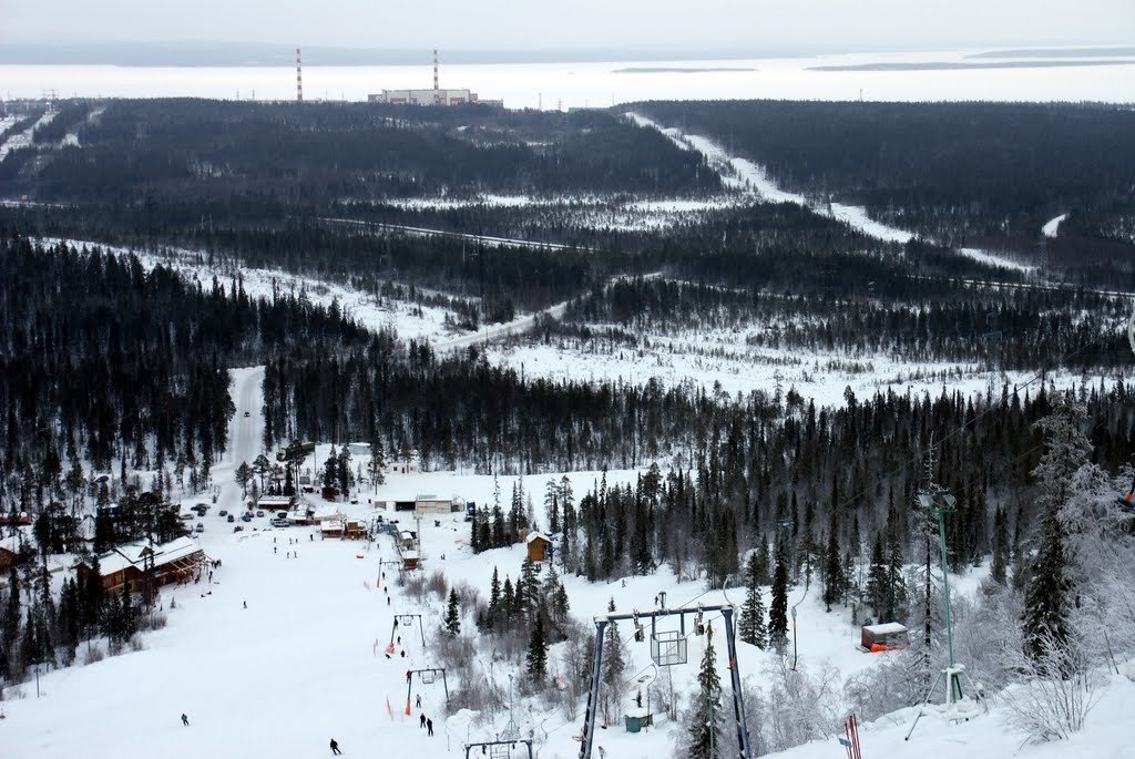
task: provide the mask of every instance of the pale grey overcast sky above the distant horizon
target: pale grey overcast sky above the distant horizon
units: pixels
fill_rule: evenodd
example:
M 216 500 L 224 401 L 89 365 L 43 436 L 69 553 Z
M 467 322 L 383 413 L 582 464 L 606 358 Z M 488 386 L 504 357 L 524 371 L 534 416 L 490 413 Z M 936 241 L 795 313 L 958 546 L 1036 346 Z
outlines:
M 1135 0 L 0 0 L 0 44 L 540 50 L 1130 44 Z

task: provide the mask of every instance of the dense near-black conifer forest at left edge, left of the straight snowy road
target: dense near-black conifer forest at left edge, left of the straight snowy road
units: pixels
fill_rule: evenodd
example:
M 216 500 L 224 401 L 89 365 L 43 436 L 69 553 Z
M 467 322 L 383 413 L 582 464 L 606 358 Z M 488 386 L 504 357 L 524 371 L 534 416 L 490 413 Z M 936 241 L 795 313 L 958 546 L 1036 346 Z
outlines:
M 207 474 L 226 445 L 230 365 L 363 335 L 335 307 L 254 300 L 239 280 L 190 284 L 134 258 L 14 238 L 0 250 L 0 462 L 40 472 L 2 494 L 23 511 L 51 498 L 65 457 Z

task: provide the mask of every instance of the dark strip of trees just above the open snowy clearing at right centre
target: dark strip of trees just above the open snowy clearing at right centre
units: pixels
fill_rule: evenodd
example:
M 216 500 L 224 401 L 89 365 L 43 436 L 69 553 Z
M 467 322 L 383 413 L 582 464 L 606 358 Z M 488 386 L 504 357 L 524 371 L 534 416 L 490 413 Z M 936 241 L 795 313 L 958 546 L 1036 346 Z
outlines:
M 869 295 L 866 293 L 865 295 Z M 865 297 L 842 300 L 723 289 L 664 279 L 620 279 L 573 300 L 563 329 L 541 321 L 538 338 L 746 329 L 746 344 L 788 351 L 893 354 L 905 361 L 977 362 L 985 369 L 1088 369 L 1126 365 L 1129 346 L 1117 329 L 1127 304 L 1073 289 L 936 284 L 918 305 Z M 579 324 L 622 329 L 583 334 Z

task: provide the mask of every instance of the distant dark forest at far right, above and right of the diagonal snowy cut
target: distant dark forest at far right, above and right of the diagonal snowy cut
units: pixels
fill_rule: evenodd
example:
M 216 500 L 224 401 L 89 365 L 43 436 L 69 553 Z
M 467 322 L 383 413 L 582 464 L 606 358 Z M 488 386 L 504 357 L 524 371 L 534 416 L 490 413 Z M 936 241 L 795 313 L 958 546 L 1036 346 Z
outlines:
M 1127 140 L 1135 113 L 1121 107 L 718 101 L 636 108 L 713 137 L 796 191 L 866 205 L 950 244 L 1035 241 L 1059 213 L 1096 214 L 1135 200 L 1135 147 Z

